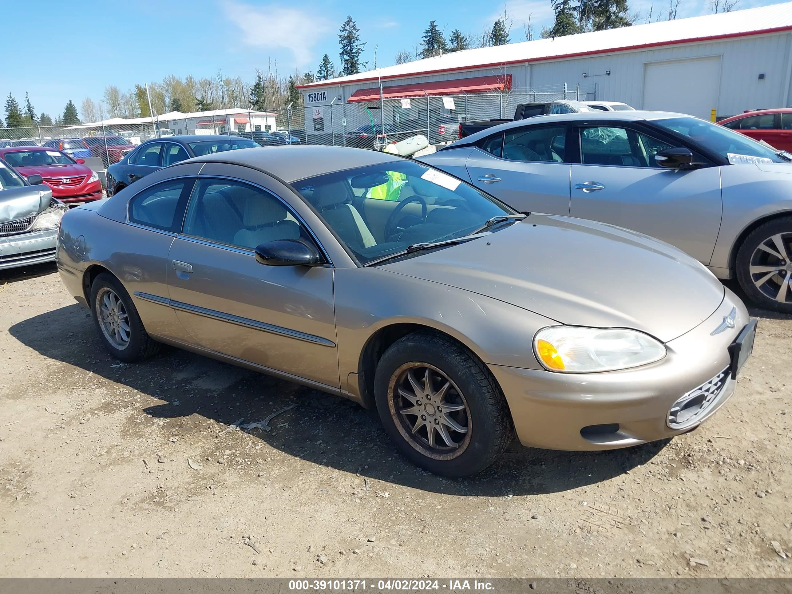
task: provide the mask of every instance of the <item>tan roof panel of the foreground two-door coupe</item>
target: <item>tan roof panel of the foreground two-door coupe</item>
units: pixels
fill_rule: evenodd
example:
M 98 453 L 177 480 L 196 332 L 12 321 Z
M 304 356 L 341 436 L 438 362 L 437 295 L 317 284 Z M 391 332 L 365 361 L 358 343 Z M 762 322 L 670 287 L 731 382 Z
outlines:
M 227 137 L 226 137 L 227 138 Z M 194 157 L 188 162 L 223 162 L 258 169 L 287 183 L 307 177 L 365 167 L 378 163 L 400 161 L 403 157 L 377 150 L 352 147 L 256 147 L 226 150 L 222 153 Z

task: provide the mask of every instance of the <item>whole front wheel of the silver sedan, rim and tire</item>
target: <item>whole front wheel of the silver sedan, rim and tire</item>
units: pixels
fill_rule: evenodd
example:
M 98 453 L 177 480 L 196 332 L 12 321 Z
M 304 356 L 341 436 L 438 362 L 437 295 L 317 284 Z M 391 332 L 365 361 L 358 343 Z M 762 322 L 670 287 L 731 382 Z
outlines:
M 737 279 L 756 305 L 792 313 L 792 217 L 757 227 L 737 253 Z

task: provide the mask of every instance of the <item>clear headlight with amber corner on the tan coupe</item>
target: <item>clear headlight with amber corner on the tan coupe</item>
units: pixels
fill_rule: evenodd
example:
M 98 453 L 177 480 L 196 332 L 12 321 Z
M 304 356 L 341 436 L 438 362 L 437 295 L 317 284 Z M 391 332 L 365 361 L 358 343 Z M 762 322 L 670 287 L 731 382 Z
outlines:
M 534 337 L 534 350 L 546 369 L 592 373 L 638 367 L 661 360 L 665 347 L 653 337 L 621 328 L 550 326 Z

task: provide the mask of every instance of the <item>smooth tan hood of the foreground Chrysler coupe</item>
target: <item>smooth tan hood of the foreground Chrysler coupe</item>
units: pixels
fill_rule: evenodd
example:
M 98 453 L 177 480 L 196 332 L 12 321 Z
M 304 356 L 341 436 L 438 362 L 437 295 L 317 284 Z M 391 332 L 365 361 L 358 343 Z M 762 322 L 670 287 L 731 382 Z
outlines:
M 381 268 L 459 287 L 570 326 L 668 342 L 722 303 L 722 284 L 679 249 L 621 227 L 531 215 L 485 238 Z M 526 337 L 530 340 L 530 337 Z

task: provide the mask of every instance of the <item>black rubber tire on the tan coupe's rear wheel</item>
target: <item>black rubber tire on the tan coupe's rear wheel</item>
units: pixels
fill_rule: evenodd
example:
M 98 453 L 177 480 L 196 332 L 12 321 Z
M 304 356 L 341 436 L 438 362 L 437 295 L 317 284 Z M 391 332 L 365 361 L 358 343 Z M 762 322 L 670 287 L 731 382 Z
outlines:
M 129 340 L 125 348 L 118 348 L 116 345 L 112 344 L 105 335 L 105 331 L 102 329 L 101 322 L 99 321 L 98 310 L 101 304 L 98 302 L 100 295 L 105 292 L 103 290 L 108 289 L 117 295 L 128 316 Z M 116 359 L 127 363 L 134 363 L 135 361 L 146 359 L 159 351 L 161 347 L 160 343 L 154 341 L 146 332 L 146 329 L 143 327 L 143 322 L 140 320 L 138 310 L 135 309 L 135 304 L 132 303 L 132 299 L 126 289 L 124 289 L 124 285 L 109 272 L 102 272 L 93 280 L 93 284 L 91 284 L 90 305 L 91 317 L 93 318 L 93 324 L 96 326 L 97 333 L 99 333 L 101 341 L 105 343 L 105 347 L 107 347 L 110 354 L 116 357 Z

